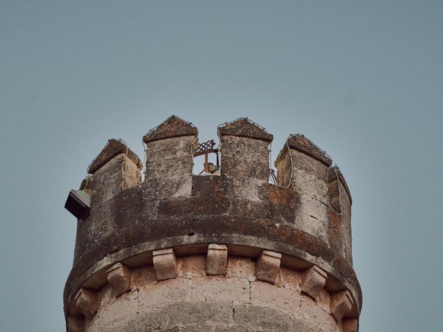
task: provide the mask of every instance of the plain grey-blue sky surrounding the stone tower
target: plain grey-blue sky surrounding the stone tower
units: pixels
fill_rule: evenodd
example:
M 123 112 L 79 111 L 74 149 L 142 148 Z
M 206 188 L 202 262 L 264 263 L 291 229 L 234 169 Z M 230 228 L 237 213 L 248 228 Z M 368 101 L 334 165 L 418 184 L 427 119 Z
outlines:
M 441 1 L 0 1 L 0 330 L 62 331 L 75 221 L 108 138 L 172 113 L 304 133 L 354 198 L 361 332 L 441 331 Z

